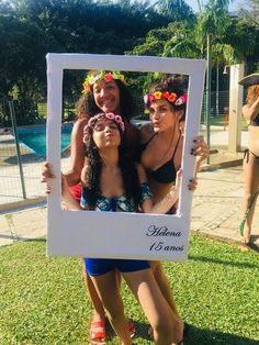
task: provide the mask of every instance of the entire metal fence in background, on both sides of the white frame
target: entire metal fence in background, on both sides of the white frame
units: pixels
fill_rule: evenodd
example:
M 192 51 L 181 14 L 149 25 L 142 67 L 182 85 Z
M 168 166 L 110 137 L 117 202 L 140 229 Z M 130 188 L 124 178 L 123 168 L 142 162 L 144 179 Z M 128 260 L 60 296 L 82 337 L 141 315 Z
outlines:
M 245 98 L 245 96 L 244 96 Z M 212 92 L 211 124 L 224 131 L 228 120 L 228 91 Z M 205 123 L 203 102 L 201 124 Z M 63 149 L 70 142 L 75 103 L 64 101 Z M 139 102 L 138 120 L 148 120 Z M 244 127 L 245 127 L 244 121 Z M 42 163 L 46 159 L 46 101 L 0 100 L 0 209 L 1 205 L 44 197 L 40 182 Z M 61 169 L 69 167 L 64 153 Z

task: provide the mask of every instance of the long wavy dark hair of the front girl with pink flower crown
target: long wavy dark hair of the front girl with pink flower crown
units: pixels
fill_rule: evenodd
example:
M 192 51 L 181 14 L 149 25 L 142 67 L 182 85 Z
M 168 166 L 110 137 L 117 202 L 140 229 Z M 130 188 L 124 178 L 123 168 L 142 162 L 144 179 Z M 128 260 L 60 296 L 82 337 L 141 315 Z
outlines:
M 120 131 L 121 145 L 119 146 L 119 168 L 122 172 L 123 188 L 127 199 L 133 199 L 135 208 L 137 210 L 140 203 L 140 185 L 137 175 L 135 164 L 131 156 L 127 154 L 126 141 L 121 127 L 114 122 Z M 99 149 L 93 140 L 93 129 L 88 127 L 88 141 L 86 154 L 88 157 L 88 167 L 86 171 L 85 180 L 87 182 L 87 198 L 89 208 L 94 210 L 97 199 L 101 196 L 100 190 L 100 176 L 102 170 L 102 158 L 99 154 Z

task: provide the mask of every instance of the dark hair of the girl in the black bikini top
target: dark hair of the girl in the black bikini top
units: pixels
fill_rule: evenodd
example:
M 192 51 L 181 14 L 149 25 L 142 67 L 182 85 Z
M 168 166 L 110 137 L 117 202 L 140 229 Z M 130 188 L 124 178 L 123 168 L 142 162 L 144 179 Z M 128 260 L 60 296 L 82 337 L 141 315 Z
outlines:
M 151 93 L 156 91 L 160 92 L 173 92 L 177 94 L 177 97 L 181 97 L 187 91 L 188 88 L 188 77 L 182 75 L 166 75 L 159 82 L 155 84 L 151 88 Z M 187 103 L 183 103 L 181 105 L 171 104 L 173 109 L 176 110 L 187 110 Z

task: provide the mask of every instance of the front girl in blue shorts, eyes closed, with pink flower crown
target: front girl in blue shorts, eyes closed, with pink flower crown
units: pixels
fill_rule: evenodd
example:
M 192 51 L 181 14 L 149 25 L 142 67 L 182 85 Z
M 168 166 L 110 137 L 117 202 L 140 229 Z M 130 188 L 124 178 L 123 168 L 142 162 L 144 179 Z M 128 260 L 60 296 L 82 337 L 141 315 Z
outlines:
M 81 209 L 166 213 L 176 203 L 179 196 L 180 172 L 176 187 L 172 187 L 164 200 L 153 204 L 144 168 L 140 165 L 136 166 L 126 154 L 124 123 L 119 114 L 99 113 L 91 118 L 85 127 L 83 141 L 88 159 L 81 172 Z M 69 210 L 79 209 L 65 179 L 63 179 L 63 200 Z M 117 285 L 117 270 L 122 272 L 150 322 L 155 343 L 177 344 L 172 311 L 147 260 L 86 258 L 85 264 L 110 323 L 122 344 L 131 345 L 132 338 Z

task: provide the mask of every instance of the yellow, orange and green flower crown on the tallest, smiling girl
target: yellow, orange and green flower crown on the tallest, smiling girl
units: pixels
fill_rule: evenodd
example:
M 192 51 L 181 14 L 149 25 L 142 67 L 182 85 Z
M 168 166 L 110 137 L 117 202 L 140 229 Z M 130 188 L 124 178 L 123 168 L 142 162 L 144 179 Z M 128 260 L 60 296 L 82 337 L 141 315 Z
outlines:
M 105 81 L 120 79 L 122 82 L 126 84 L 124 75 L 122 75 L 119 70 L 112 71 L 100 70 L 100 73 L 90 71 L 82 84 L 83 86 L 82 93 L 87 94 L 88 92 L 91 92 L 93 84 L 100 79 Z

